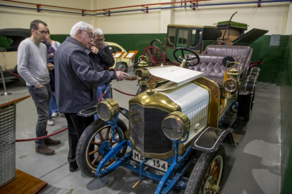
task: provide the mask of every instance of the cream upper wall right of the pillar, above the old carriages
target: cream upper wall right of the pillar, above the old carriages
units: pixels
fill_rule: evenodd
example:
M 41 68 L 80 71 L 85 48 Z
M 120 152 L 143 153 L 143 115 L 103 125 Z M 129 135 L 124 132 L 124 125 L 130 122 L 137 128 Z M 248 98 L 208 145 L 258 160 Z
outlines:
M 196 8 L 195 11 L 190 11 L 190 8 L 188 10 L 179 8 L 175 11 L 174 23 L 183 25 L 213 25 L 217 22 L 229 20 L 231 15 L 238 11 L 232 20 L 248 24 L 248 30 L 259 28 L 269 30 L 267 34 L 285 34 L 285 19 L 288 15 L 288 7 L 289 3 L 270 3 L 262 4 L 260 8 L 257 8 L 257 4 L 205 6 Z

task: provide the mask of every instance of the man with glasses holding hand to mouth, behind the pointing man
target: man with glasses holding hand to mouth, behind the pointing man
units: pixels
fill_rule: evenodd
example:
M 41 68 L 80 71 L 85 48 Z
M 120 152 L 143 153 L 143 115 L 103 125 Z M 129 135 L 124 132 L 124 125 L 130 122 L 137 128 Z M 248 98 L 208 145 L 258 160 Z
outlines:
M 114 57 L 109 49 L 109 45 L 104 42 L 104 32 L 100 28 L 95 28 L 93 30 L 93 41 L 91 51 L 97 55 L 98 64 L 102 66 L 103 70 L 109 70 L 109 67 L 114 65 Z M 99 99 L 102 94 L 107 90 L 107 86 L 111 84 L 111 81 L 101 84 L 97 87 L 97 99 Z M 108 90 L 104 94 L 104 99 L 111 98 L 111 90 Z M 99 116 L 96 114 L 95 119 Z

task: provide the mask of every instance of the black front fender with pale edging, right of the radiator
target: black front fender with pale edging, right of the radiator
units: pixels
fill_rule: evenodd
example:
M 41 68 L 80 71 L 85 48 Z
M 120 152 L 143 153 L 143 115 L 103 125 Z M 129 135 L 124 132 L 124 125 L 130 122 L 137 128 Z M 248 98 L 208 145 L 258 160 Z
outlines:
M 203 129 L 200 134 L 197 135 L 197 138 L 194 138 L 191 145 L 195 150 L 213 153 L 219 148 L 222 142 L 236 145 L 231 131 L 207 127 L 207 129 Z

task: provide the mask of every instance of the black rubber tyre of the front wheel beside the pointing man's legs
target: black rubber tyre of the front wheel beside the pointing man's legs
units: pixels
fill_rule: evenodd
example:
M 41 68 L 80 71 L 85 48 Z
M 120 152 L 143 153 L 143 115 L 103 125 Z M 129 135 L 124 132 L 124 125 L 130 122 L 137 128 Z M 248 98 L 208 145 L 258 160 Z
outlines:
M 123 135 L 125 134 L 126 130 L 128 129 L 126 124 L 121 120 L 118 119 L 118 127 L 123 131 Z M 96 132 L 104 127 L 105 125 L 108 125 L 107 122 L 104 122 L 102 119 L 97 119 L 94 122 L 92 122 L 86 129 L 83 131 L 82 136 L 80 137 L 77 145 L 76 150 L 76 162 L 78 164 L 79 169 L 87 176 L 90 176 L 92 178 L 97 178 L 95 174 L 92 173 L 92 168 L 87 164 L 86 157 L 87 157 L 87 145 L 89 141 L 91 140 L 92 136 L 96 134 Z M 127 150 L 126 148 L 123 148 L 122 153 L 118 155 L 118 157 L 121 157 L 125 155 Z M 95 169 L 96 170 L 96 169 Z M 106 175 L 106 174 L 104 174 Z

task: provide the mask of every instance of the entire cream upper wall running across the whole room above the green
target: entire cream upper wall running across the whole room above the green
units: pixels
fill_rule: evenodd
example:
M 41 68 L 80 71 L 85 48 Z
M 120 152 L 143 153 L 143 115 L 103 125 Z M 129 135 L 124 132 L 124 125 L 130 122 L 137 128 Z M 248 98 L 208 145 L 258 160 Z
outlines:
M 25 2 L 35 4 L 49 4 L 54 6 L 65 6 L 71 8 L 82 8 L 86 10 L 96 10 L 103 8 L 114 8 L 121 6 L 133 6 L 142 4 L 157 4 L 160 2 L 169 2 L 174 0 L 25 0 Z M 224 2 L 236 2 L 246 0 L 212 0 L 202 1 L 199 4 L 214 4 Z M 255 0 L 248 0 L 255 1 Z M 7 1 L 1 1 L 1 4 L 12 6 L 25 6 L 24 4 L 14 4 Z M 172 6 L 180 6 L 173 4 Z M 190 5 L 188 3 L 187 5 Z M 163 5 L 171 6 L 171 5 Z M 28 6 L 35 8 L 36 6 Z M 159 8 L 159 6 L 149 6 L 150 8 Z M 41 8 L 55 9 L 42 6 Z M 114 11 L 125 11 L 135 8 L 123 8 Z M 61 11 L 71 11 L 59 9 Z M 80 11 L 74 11 L 79 12 Z M 262 4 L 257 8 L 257 4 L 243 4 L 233 6 L 204 6 L 196 8 L 174 8 L 164 10 L 150 10 L 149 13 L 134 11 L 127 13 L 111 13 L 111 16 L 82 16 L 70 13 L 55 13 L 42 11 L 37 13 L 35 10 L 24 10 L 20 8 L 6 8 L 0 6 L 0 28 L 21 27 L 29 28 L 32 20 L 43 20 L 47 22 L 52 34 L 69 34 L 71 27 L 82 20 L 92 24 L 94 27 L 100 27 L 107 34 L 148 34 L 148 33 L 166 33 L 167 24 L 180 25 L 213 25 L 219 21 L 229 20 L 231 15 L 238 11 L 233 17 L 233 21 L 243 22 L 250 25 L 248 30 L 260 28 L 269 30 L 268 34 L 292 34 L 292 6 L 291 3 L 270 3 Z M 88 12 L 90 13 L 90 12 Z M 100 12 L 99 12 L 100 13 Z

